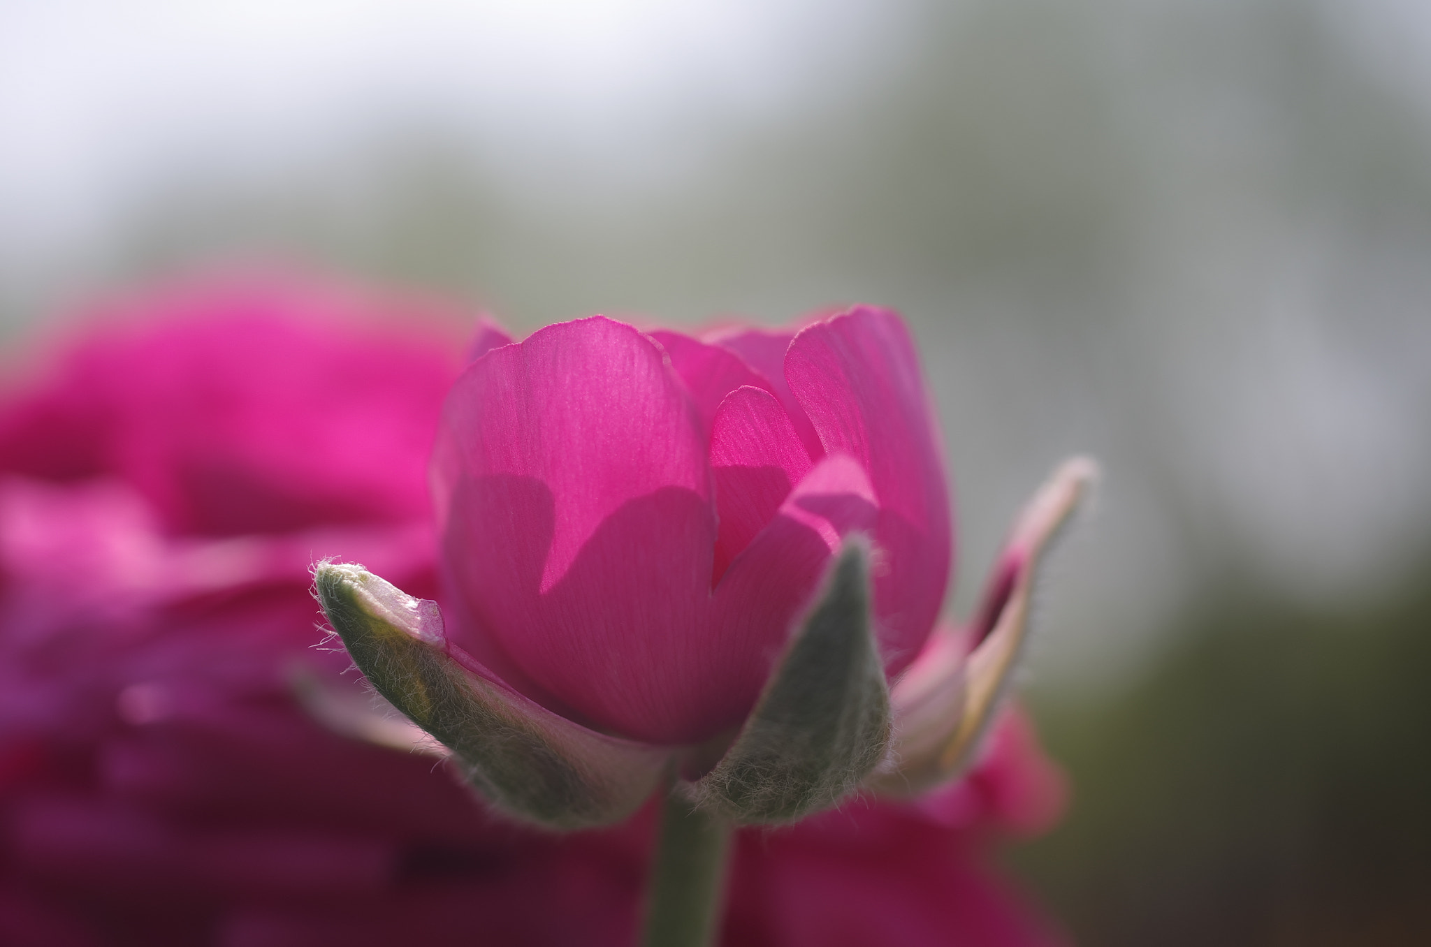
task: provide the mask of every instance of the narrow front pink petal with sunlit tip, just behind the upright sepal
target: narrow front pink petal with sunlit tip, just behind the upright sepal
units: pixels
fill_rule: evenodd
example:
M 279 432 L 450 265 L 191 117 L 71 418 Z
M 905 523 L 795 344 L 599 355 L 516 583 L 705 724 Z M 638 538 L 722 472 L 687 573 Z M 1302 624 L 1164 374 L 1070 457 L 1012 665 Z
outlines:
M 864 469 L 849 456 L 827 456 L 731 562 L 711 602 L 711 651 L 734 668 L 720 695 L 726 724 L 738 724 L 756 702 L 841 539 L 871 531 L 876 514 Z

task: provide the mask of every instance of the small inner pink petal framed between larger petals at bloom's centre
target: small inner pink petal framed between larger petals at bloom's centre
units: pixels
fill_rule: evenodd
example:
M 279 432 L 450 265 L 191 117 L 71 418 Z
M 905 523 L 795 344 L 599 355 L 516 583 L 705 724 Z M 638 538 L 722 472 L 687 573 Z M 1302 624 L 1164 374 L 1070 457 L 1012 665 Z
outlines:
M 810 455 L 776 398 L 743 386 L 721 402 L 711 425 L 711 474 L 720 538 L 711 585 L 776 516 L 790 488 L 810 471 Z

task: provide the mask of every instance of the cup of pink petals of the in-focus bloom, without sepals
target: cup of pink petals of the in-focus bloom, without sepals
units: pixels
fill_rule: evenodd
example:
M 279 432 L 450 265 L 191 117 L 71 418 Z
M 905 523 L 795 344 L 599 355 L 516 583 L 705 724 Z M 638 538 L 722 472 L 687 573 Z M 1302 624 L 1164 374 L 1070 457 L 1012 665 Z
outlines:
M 933 412 L 886 310 L 705 340 L 548 326 L 462 373 L 432 479 L 454 644 L 641 741 L 738 727 L 851 531 L 879 549 L 889 674 L 944 598 Z

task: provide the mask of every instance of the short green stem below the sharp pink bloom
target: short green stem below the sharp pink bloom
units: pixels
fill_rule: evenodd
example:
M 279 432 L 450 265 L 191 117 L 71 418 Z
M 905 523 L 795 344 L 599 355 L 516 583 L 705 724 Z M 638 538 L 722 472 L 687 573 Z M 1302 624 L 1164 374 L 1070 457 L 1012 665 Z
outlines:
M 726 894 L 730 823 L 691 807 L 671 788 L 645 917 L 645 947 L 708 947 L 716 943 Z

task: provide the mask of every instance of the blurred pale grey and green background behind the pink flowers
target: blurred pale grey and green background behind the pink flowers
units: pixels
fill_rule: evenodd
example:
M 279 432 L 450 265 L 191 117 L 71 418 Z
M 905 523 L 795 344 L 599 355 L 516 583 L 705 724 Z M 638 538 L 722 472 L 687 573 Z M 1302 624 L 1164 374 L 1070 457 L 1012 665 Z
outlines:
M 1088 944 L 1431 941 L 1431 7 L 4 0 L 0 332 L 302 266 L 518 329 L 910 319 L 959 592 L 1105 466 L 1025 692 Z

